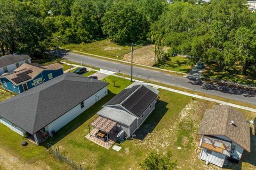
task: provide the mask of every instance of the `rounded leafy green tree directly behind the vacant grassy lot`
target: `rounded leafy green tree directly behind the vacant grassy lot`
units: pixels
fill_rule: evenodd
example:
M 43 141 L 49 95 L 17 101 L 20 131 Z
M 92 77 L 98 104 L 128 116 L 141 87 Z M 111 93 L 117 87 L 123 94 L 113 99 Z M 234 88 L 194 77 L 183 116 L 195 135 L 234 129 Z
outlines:
M 146 37 L 149 23 L 138 10 L 136 3 L 119 2 L 114 4 L 102 18 L 102 31 L 118 43 L 135 42 Z

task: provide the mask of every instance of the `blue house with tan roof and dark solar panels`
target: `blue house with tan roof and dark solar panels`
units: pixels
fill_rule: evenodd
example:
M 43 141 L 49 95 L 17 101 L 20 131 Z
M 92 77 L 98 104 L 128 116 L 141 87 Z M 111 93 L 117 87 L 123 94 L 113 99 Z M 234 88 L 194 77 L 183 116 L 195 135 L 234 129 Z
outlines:
M 2 74 L 0 81 L 3 88 L 20 94 L 61 74 L 63 66 L 59 63 L 48 66 L 25 63 L 12 73 Z

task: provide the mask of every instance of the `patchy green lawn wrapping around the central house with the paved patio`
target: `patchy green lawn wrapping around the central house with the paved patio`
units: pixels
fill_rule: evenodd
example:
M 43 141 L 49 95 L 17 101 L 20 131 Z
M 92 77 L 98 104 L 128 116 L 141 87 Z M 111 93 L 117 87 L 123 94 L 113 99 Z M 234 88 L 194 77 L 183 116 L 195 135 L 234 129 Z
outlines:
M 194 150 L 197 147 L 195 139 L 199 140 L 199 137 L 195 135 L 199 124 L 198 120 L 201 120 L 204 110 L 212 103 L 202 102 L 201 104 L 197 101 L 196 106 L 193 106 L 193 112 L 190 113 L 193 118 L 186 115 L 188 124 L 184 125 L 184 122 L 177 123 L 180 120 L 179 113 L 186 105 L 195 101 L 191 97 L 160 90 L 159 102 L 156 104 L 154 112 L 135 132 L 138 139 L 126 140 L 121 144 L 122 150 L 116 152 L 111 148 L 107 150 L 100 147 L 85 138 L 85 135 L 89 133 L 88 125 L 94 120 L 96 113 L 102 108 L 101 106 L 131 83 L 129 80 L 113 76 L 104 80 L 110 83 L 108 88 L 111 94 L 62 128 L 57 137 L 50 141 L 54 147 L 61 148 L 62 154 L 67 155 L 86 169 L 139 169 L 143 158 L 150 150 L 154 149 L 161 152 L 170 149 L 173 153 L 173 160 L 177 159 L 179 166 L 191 166 L 190 162 L 195 158 Z M 191 119 L 195 121 L 191 121 Z M 184 142 L 184 139 L 187 141 Z M 179 150 L 178 147 L 182 149 Z M 204 162 L 198 159 L 193 161 L 195 162 L 194 168 L 204 165 Z

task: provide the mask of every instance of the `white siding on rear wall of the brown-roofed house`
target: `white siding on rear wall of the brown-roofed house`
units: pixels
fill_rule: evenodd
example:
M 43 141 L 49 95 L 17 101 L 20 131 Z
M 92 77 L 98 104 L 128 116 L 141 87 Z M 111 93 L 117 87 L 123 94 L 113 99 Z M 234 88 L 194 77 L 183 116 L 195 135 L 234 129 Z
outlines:
M 226 155 L 223 155 L 223 154 L 220 154 L 220 153 L 217 153 L 217 152 L 214 152 L 214 151 L 212 151 L 212 154 L 208 154 L 206 152 L 206 150 L 207 149 L 202 148 L 201 159 L 205 160 L 205 161 L 208 161 L 211 164 L 222 167 L 224 162 L 225 162 Z

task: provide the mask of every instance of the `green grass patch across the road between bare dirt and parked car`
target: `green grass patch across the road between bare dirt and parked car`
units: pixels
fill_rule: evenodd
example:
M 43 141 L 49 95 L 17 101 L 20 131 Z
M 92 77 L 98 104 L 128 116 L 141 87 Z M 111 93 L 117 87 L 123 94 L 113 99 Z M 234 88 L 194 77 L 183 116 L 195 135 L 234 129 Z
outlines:
M 155 64 L 160 69 L 189 73 L 191 67 L 187 65 L 188 58 L 183 56 L 170 57 L 166 62 Z

